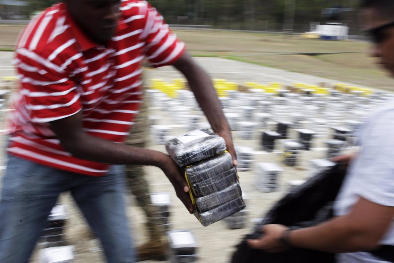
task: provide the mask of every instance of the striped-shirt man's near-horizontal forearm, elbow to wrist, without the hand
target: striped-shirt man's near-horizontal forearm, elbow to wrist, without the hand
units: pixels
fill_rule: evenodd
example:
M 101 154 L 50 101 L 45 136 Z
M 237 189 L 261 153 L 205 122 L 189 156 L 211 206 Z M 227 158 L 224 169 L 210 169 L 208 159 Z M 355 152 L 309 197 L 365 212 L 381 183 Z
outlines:
M 108 164 L 141 164 L 162 168 L 167 158 L 167 155 L 159 151 L 114 143 L 87 133 L 61 143 L 78 158 Z

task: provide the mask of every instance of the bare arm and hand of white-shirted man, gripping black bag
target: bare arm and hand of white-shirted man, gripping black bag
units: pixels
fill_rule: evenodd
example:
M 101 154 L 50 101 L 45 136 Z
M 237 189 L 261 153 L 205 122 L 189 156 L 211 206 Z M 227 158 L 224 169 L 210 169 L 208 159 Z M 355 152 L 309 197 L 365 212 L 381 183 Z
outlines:
M 290 231 L 288 241 L 297 248 L 332 253 L 375 250 L 393 218 L 394 207 L 360 198 L 349 215 L 338 216 L 318 226 Z M 263 226 L 265 235 L 250 240 L 249 245 L 267 252 L 284 251 L 287 248 L 279 238 L 286 229 L 282 225 Z

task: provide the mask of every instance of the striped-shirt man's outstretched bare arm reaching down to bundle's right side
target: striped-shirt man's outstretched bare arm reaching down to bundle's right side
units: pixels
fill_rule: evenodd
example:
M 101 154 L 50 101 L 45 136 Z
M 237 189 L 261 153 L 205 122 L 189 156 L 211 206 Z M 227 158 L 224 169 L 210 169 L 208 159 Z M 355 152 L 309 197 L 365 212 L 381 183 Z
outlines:
M 210 76 L 187 53 L 184 53 L 173 66 L 188 80 L 190 88 L 212 129 L 226 141 L 227 151 L 231 154 L 234 166 L 236 166 L 237 155 L 232 142 L 231 129 L 221 109 Z

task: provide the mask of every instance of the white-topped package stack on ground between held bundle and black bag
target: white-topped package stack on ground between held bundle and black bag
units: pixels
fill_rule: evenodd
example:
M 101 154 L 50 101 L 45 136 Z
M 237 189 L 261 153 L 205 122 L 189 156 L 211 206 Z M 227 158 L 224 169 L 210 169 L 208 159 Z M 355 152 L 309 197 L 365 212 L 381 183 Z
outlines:
M 274 192 L 278 188 L 278 177 L 283 171 L 277 164 L 260 162 L 256 164 L 256 187 L 261 192 Z

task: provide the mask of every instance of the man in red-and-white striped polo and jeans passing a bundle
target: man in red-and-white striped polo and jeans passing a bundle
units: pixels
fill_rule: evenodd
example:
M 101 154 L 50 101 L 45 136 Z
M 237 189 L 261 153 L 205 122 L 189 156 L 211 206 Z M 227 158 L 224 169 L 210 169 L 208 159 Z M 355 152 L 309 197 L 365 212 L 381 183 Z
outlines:
M 71 191 L 108 262 L 134 262 L 123 171 L 159 167 L 193 210 L 184 177 L 161 152 L 123 144 L 141 103 L 141 63 L 183 73 L 214 131 L 236 156 L 206 72 L 146 1 L 64 0 L 18 40 L 20 89 L 0 202 L 0 263 L 27 262 L 60 192 Z

